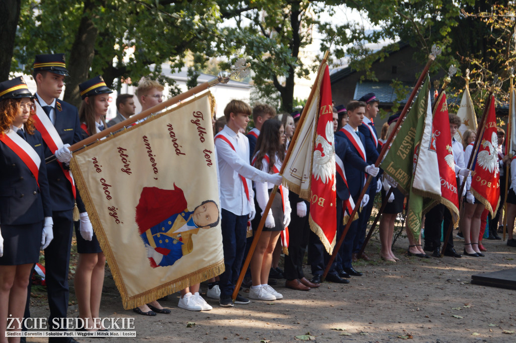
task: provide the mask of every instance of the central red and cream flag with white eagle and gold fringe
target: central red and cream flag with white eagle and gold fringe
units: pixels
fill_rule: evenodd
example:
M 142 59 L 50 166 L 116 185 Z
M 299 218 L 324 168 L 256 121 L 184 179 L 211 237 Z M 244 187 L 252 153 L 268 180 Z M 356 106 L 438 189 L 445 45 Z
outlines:
M 284 183 L 299 197 L 310 201 L 310 228 L 331 254 L 337 231 L 335 146 L 328 64 L 321 67 L 309 99 L 298 139 L 285 161 Z

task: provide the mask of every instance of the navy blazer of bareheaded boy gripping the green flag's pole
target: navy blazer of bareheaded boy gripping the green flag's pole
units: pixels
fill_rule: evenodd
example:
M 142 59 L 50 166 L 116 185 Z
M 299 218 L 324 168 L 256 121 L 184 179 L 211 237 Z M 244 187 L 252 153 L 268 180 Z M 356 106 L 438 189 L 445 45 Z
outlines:
M 350 181 L 352 179 L 350 176 L 348 176 L 351 173 L 350 169 L 364 171 L 368 164 L 362 159 L 362 157 L 357 155 L 357 153 L 353 152 L 349 148 L 349 144 L 350 143 L 348 142 L 347 138 L 345 139 L 341 135 L 335 135 L 335 154 L 341 158 L 344 164 L 344 172 L 346 173 L 348 186 L 351 187 Z M 346 187 L 346 184 L 344 183 L 344 180 L 340 174 L 336 173 L 336 178 L 337 197 L 341 200 L 347 200 L 349 198 L 349 189 Z

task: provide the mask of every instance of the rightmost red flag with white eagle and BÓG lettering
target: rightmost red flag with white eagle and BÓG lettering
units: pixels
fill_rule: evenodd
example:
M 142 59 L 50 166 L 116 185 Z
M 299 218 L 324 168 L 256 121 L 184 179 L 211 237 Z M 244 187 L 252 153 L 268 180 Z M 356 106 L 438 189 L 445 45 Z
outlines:
M 471 172 L 471 192 L 478 201 L 486 206 L 491 216 L 498 209 L 500 202 L 499 181 L 496 111 L 494 95 L 491 95 L 486 125 Z

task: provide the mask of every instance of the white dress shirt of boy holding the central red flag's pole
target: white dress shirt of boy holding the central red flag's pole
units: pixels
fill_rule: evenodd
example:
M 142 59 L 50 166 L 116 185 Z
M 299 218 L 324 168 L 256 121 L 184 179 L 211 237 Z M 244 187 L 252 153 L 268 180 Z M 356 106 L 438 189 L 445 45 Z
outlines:
M 220 206 L 237 216 L 249 215 L 251 209 L 254 209 L 254 193 L 250 180 L 266 182 L 269 174 L 249 164 L 249 140 L 245 135 L 235 133 L 227 125 L 218 135 L 226 137 L 235 148 L 233 150 L 223 139 L 215 140 L 220 177 Z M 247 199 L 239 175 L 246 178 L 250 200 Z

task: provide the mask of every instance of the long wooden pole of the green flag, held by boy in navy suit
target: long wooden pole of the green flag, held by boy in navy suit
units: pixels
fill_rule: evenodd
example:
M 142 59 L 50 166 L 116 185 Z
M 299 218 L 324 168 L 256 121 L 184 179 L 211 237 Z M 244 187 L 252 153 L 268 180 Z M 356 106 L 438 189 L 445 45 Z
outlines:
M 409 96 L 409 99 L 407 100 L 407 103 L 405 104 L 403 110 L 401 111 L 401 114 L 398 118 L 398 121 L 396 122 L 396 126 L 394 126 L 394 129 L 387 139 L 382 145 L 382 150 L 380 151 L 380 155 L 376 159 L 375 167 L 378 167 L 380 165 L 380 162 L 383 159 L 383 156 L 385 156 L 385 153 L 389 149 L 389 145 L 391 145 L 392 140 L 394 139 L 395 134 L 398 132 L 399 126 L 401 125 L 401 122 L 405 118 L 405 115 L 407 114 L 408 109 L 412 105 L 412 102 L 414 101 L 414 97 L 417 93 L 417 91 L 420 89 L 421 85 L 423 84 L 423 80 L 425 79 L 426 75 L 428 74 L 428 70 L 430 69 L 430 65 L 432 62 L 436 59 L 436 56 L 440 53 L 440 50 L 437 50 L 436 48 L 432 48 L 432 54 L 428 56 L 428 61 L 426 62 L 425 68 L 423 69 L 423 72 L 421 73 L 420 77 L 417 79 L 416 84 L 414 85 L 414 88 L 412 89 L 412 93 Z M 355 206 L 353 208 L 353 212 L 349 215 L 349 218 L 354 218 L 354 216 L 357 214 L 357 211 L 360 207 L 360 203 L 362 202 L 362 198 L 364 198 L 364 194 L 367 191 L 367 188 L 369 187 L 369 184 L 371 183 L 373 179 L 373 176 L 368 175 L 367 180 L 365 182 L 364 188 L 360 192 L 360 195 L 358 197 L 357 202 L 355 203 Z M 370 201 L 373 201 L 373 199 L 370 199 Z M 337 256 L 338 250 L 341 248 L 342 243 L 344 242 L 344 237 L 346 237 L 346 234 L 349 231 L 349 227 L 351 226 L 351 223 L 353 220 L 349 220 L 346 224 L 346 227 L 344 227 L 344 231 L 341 235 L 341 237 L 338 239 L 338 242 L 336 246 L 333 248 L 333 253 L 331 254 L 330 260 L 328 261 L 328 264 L 326 265 L 326 269 L 324 273 L 322 274 L 322 280 L 326 279 L 326 275 L 328 275 L 328 271 L 330 270 L 331 265 L 333 264 L 333 261 L 335 260 L 335 257 Z

